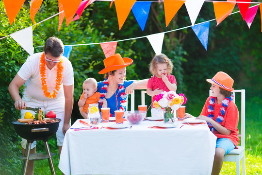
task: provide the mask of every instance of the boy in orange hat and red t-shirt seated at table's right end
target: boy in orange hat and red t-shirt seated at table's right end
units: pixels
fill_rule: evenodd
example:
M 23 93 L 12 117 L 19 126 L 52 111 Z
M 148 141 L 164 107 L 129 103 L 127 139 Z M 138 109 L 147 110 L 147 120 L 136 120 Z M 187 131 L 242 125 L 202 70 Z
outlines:
M 210 96 L 196 119 L 205 120 L 210 130 L 217 137 L 212 175 L 219 175 L 223 165 L 224 156 L 236 148 L 239 143 L 238 120 L 239 112 L 232 101 L 231 91 L 234 80 L 225 72 L 217 72 L 211 83 L 212 96 Z M 185 114 L 185 118 L 193 117 Z

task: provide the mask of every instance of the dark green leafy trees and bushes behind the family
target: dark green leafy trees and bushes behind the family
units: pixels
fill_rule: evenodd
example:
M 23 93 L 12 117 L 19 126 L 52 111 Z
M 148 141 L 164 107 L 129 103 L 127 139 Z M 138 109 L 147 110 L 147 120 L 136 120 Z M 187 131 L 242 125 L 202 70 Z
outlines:
M 169 26 L 165 27 L 163 2 L 153 2 L 144 32 L 141 31 L 132 12 L 119 31 L 115 6 L 113 4 L 109 8 L 109 5 L 110 2 L 96 1 L 84 10 L 79 20 L 71 22 L 68 27 L 64 20 L 60 32 L 57 32 L 58 16 L 34 26 L 34 47 L 43 46 L 45 40 L 52 35 L 61 38 L 65 45 L 97 43 L 150 35 L 191 25 L 183 5 Z M 0 37 L 33 25 L 29 17 L 29 9 L 30 1 L 26 1 L 16 17 L 16 22 L 10 26 L 3 2 L 0 1 Z M 234 11 L 238 11 L 237 5 Z M 56 13 L 58 13 L 58 1 L 44 0 L 35 21 L 39 22 Z M 213 4 L 205 2 L 196 23 L 213 18 L 215 18 Z M 260 100 L 262 97 L 262 62 L 260 61 L 262 35 L 259 12 L 250 30 L 240 13 L 229 16 L 217 27 L 215 25 L 215 21 L 210 23 L 207 52 L 191 28 L 166 33 L 164 37 L 162 52 L 175 65 L 173 74 L 178 82 L 177 92 L 185 93 L 188 98 L 186 110 L 195 116 L 200 113 L 208 96 L 210 85 L 205 79 L 212 78 L 217 71 L 227 72 L 235 80 L 235 89 L 246 89 L 247 102 L 262 104 Z M 42 52 L 42 50 L 43 47 L 38 47 L 34 52 Z M 127 79 L 145 79 L 151 76 L 148 64 L 154 56 L 154 51 L 147 38 L 118 42 L 116 53 L 134 60 L 134 64 L 127 67 Z M 19 111 L 14 108 L 8 85 L 27 57 L 28 54 L 11 37 L 0 40 L 0 138 L 2 138 L 0 140 L 0 170 L 3 174 L 18 174 L 20 171 L 21 160 L 17 158 L 17 155 L 21 155 L 20 139 L 10 124 L 20 116 Z M 83 80 L 88 77 L 94 77 L 98 81 L 103 80 L 103 77 L 98 74 L 98 71 L 103 68 L 103 59 L 104 54 L 99 45 L 73 47 L 70 55 L 75 78 L 72 123 L 82 118 L 77 102 L 82 93 Z M 21 95 L 22 91 L 23 87 L 20 88 Z M 136 92 L 135 98 L 135 101 L 140 101 L 139 92 Z M 150 98 L 147 98 L 147 104 L 149 103 Z M 246 111 L 248 112 L 250 111 Z M 247 116 L 246 123 L 249 119 L 250 123 L 254 122 L 251 118 L 252 116 L 249 118 Z M 255 124 L 257 124 L 256 121 Z M 249 151 L 256 150 L 251 145 L 260 145 L 258 150 L 261 150 L 261 139 L 260 134 L 256 137 L 256 141 L 255 139 L 250 141 Z M 51 150 L 57 149 L 54 137 L 50 139 L 49 145 Z M 41 142 L 38 143 L 38 148 L 44 150 Z

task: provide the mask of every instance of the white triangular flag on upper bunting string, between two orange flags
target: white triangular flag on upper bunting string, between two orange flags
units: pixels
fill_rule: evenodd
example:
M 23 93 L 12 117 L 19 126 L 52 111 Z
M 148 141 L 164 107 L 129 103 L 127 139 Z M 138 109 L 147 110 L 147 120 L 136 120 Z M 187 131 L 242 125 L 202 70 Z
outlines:
M 201 9 L 204 1 L 205 0 L 186 0 L 185 1 L 187 13 L 189 15 L 189 18 L 190 18 L 193 26 L 194 26 L 194 24 L 197 20 L 197 16 L 200 12 L 200 9 Z

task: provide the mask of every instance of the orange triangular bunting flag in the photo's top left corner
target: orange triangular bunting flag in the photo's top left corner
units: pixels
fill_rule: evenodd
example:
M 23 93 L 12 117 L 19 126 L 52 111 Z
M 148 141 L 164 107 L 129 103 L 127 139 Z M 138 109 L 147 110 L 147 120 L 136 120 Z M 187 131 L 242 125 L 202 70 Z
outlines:
M 11 25 L 16 19 L 16 15 L 18 14 L 25 0 L 3 0 L 3 2 L 9 23 Z

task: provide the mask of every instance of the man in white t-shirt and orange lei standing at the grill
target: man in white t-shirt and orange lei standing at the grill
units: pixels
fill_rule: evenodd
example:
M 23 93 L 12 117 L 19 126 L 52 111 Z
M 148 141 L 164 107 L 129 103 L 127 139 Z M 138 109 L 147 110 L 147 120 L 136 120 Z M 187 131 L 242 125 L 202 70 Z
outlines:
M 49 37 L 43 53 L 28 57 L 10 83 L 8 90 L 18 110 L 24 106 L 41 107 L 46 114 L 54 111 L 62 121 L 56 133 L 59 154 L 62 150 L 64 135 L 70 127 L 73 108 L 74 72 L 71 62 L 64 56 L 64 44 L 57 37 Z M 19 88 L 25 84 L 21 99 Z M 21 110 L 24 118 L 27 110 Z M 33 111 L 30 111 L 33 112 Z M 22 139 L 22 153 L 25 153 L 27 140 Z M 35 153 L 36 141 L 32 143 L 31 153 Z M 33 161 L 29 161 L 27 174 L 33 175 Z

